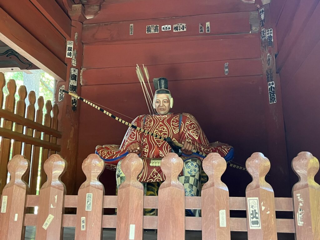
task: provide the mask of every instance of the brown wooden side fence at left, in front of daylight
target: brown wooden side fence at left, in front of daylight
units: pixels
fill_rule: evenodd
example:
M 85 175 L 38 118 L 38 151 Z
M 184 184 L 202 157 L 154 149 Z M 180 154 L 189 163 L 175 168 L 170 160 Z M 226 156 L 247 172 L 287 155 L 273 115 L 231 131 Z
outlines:
M 10 79 L 7 83 L 9 94 L 6 96 L 4 108 L 2 108 L 4 85 L 4 74 L 0 73 L 0 118 L 3 119 L 3 125 L 2 127 L 0 126 L 0 136 L 2 137 L 0 146 L 0 194 L 7 181 L 7 164 L 11 151 L 12 156 L 19 155 L 22 153 L 22 148 L 25 159 L 31 162 L 30 179 L 29 174 L 27 174 L 24 180 L 30 184 L 30 194 L 36 194 L 39 158 L 41 157 L 40 186 L 42 186 L 47 180 L 43 171 L 44 161 L 50 155 L 60 151 L 60 146 L 56 144 L 57 138 L 61 138 L 61 133 L 57 131 L 58 106 L 55 104 L 52 107 L 50 100 L 46 102 L 46 114 L 43 124 L 43 97 L 40 96 L 38 98 L 38 110 L 36 111 L 36 94 L 34 91 L 30 91 L 28 95 L 29 106 L 26 114 L 25 99 L 27 98 L 27 89 L 25 86 L 20 86 L 18 90 L 19 100 L 16 104 L 14 95 L 17 86 L 15 81 Z M 53 112 L 53 117 L 51 117 L 51 111 Z M 11 146 L 12 140 L 13 146 Z M 42 148 L 41 156 L 40 148 Z

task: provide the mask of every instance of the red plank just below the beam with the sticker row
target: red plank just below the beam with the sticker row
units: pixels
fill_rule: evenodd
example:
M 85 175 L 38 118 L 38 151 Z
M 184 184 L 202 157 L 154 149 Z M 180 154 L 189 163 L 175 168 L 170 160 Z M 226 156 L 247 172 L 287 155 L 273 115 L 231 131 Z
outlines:
M 139 44 L 85 45 L 83 68 L 111 68 L 148 65 L 203 62 L 260 57 L 260 35 L 247 38 L 210 39 L 216 36 L 191 37 L 186 41 Z M 210 49 L 210 54 L 208 54 Z

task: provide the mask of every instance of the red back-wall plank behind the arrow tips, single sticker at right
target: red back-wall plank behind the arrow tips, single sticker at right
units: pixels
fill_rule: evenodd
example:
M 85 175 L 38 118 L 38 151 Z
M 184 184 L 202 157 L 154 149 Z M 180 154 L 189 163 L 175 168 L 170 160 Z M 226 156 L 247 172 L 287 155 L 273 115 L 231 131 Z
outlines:
M 225 75 L 224 72 L 224 64 L 226 62 L 229 64 L 228 75 Z M 171 81 L 262 75 L 261 58 L 178 63 L 172 65 L 147 66 L 145 64 L 145 66 L 150 73 L 150 79 L 160 76 L 171 76 Z M 134 77 L 134 70 L 134 67 L 83 69 L 81 85 L 139 83 L 138 79 Z

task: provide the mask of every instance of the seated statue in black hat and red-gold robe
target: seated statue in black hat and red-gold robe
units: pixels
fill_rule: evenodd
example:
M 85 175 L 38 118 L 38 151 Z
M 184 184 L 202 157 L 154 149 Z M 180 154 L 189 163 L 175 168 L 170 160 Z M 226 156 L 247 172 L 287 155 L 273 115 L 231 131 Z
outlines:
M 184 161 L 184 167 L 180 173 L 179 181 L 184 185 L 186 196 L 199 196 L 202 158 L 191 150 L 196 149 L 206 154 L 217 152 L 226 160 L 231 160 L 233 148 L 225 143 L 209 143 L 198 122 L 191 114 L 170 113 L 173 98 L 167 89 L 168 81 L 166 78 L 159 78 L 157 81 L 153 100 L 153 107 L 157 114 L 138 116 L 132 124 L 162 137 L 170 137 L 173 141 L 183 144 L 180 157 Z M 106 167 L 116 170 L 117 186 L 125 178 L 121 171 L 121 159 L 128 153 L 138 154 L 144 165 L 138 180 L 146 183 L 147 196 L 157 196 L 158 188 L 165 180 L 160 162 L 171 151 L 172 148 L 167 142 L 131 127 L 126 132 L 121 146 L 104 145 L 96 148 L 96 153 L 104 159 Z M 148 209 L 145 214 L 153 215 L 154 211 L 154 209 Z M 189 213 L 194 216 L 196 211 L 191 210 Z

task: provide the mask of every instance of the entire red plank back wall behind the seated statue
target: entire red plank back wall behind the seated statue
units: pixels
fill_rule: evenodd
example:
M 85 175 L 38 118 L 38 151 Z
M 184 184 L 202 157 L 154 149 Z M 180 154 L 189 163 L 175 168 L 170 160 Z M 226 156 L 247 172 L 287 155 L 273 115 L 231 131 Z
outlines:
M 211 32 L 200 34 L 199 23 L 205 26 L 208 21 Z M 209 141 L 234 146 L 235 162 L 245 164 L 251 153 L 258 151 L 268 157 L 272 151 L 268 142 L 272 140 L 268 139 L 263 98 L 266 84 L 262 78 L 260 34 L 251 32 L 257 22 L 255 5 L 240 0 L 104 3 L 96 17 L 84 21 L 81 94 L 132 118 L 146 114 L 148 108 L 135 74 L 136 63 L 145 64 L 151 79 L 169 79 L 175 100 L 172 111 L 194 115 Z M 147 25 L 177 23 L 186 23 L 187 31 L 146 34 Z M 129 35 L 130 24 L 134 25 L 133 35 Z M 229 74 L 225 75 L 227 62 Z M 84 180 L 83 159 L 96 145 L 120 144 L 126 129 L 82 104 L 77 183 Z M 279 132 L 279 136 L 282 134 Z M 285 145 L 281 146 L 285 155 Z M 270 161 L 278 166 L 267 177 L 273 186 L 278 185 L 276 196 L 290 194 L 282 191 L 289 189 L 283 174 L 288 171 L 286 159 L 274 157 Z M 101 178 L 105 184 L 116 185 L 115 172 L 104 171 Z M 251 177 L 228 168 L 223 180 L 231 196 L 239 196 Z

